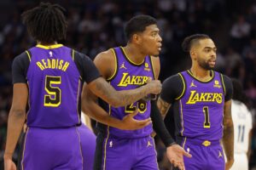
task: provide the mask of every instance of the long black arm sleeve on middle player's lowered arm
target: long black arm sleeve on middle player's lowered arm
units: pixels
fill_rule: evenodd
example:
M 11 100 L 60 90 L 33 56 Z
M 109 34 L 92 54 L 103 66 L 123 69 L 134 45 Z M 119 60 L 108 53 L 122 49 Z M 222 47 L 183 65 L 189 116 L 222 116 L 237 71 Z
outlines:
M 172 136 L 166 129 L 165 123 L 160 116 L 160 111 L 157 108 L 156 101 L 151 101 L 151 119 L 153 122 L 153 128 L 154 131 L 159 135 L 160 139 L 163 141 L 163 143 L 166 145 L 166 147 L 175 144 L 174 139 L 172 139 Z

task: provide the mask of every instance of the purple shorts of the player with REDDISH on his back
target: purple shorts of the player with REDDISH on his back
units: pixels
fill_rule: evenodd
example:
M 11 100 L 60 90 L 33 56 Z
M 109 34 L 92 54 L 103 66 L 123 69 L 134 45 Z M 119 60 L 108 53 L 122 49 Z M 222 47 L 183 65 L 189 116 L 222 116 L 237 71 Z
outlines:
M 83 169 L 77 127 L 29 127 L 23 147 L 22 170 Z

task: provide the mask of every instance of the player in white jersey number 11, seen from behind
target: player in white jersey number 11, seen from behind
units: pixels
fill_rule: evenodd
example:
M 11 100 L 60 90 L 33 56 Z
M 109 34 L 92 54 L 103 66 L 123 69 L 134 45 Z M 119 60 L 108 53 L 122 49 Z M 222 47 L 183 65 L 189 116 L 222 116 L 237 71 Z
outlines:
M 232 79 L 234 94 L 232 98 L 232 118 L 234 122 L 234 148 L 235 162 L 232 170 L 248 170 L 249 147 L 252 138 L 253 120 L 250 111 L 245 105 L 245 94 L 243 94 L 241 83 Z

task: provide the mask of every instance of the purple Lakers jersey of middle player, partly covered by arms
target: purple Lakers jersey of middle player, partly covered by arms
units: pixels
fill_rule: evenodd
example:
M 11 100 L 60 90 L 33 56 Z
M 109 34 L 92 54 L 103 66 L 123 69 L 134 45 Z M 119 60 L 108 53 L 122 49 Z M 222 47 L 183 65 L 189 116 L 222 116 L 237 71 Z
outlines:
M 110 77 L 108 81 L 117 91 L 138 88 L 147 82 L 148 77 L 154 79 L 154 71 L 150 56 L 147 56 L 143 63 L 137 65 L 125 55 L 123 48 L 113 48 L 113 53 L 116 57 L 116 71 L 113 77 Z M 139 113 L 135 118 L 137 120 L 143 120 L 150 116 L 151 110 L 150 100 L 147 101 L 144 99 L 140 99 L 131 105 L 126 105 L 125 107 L 114 108 L 106 103 L 104 103 L 102 107 L 111 116 L 120 120 L 127 114 L 136 111 L 136 109 L 138 109 Z M 153 132 L 151 124 L 147 127 L 143 127 L 142 129 L 132 131 L 106 127 L 102 124 L 99 125 L 99 128 L 103 133 L 108 132 L 111 136 L 127 139 L 145 137 Z

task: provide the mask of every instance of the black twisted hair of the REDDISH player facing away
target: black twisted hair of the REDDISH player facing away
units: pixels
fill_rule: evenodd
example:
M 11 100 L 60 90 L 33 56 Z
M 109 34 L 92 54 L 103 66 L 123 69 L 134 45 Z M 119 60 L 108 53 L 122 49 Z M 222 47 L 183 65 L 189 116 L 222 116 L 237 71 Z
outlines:
M 40 3 L 21 14 L 28 33 L 37 41 L 51 43 L 66 38 L 67 20 L 58 4 Z

